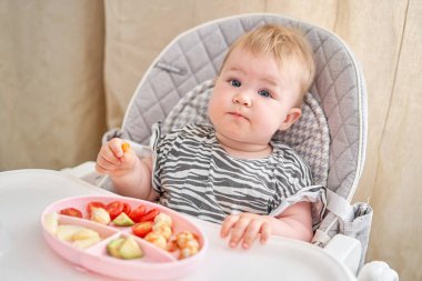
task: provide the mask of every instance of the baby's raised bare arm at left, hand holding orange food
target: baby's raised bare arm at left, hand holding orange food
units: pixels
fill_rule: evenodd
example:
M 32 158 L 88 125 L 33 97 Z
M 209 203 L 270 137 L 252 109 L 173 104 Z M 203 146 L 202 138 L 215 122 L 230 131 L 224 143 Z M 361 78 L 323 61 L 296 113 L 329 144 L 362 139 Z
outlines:
M 152 158 L 140 160 L 132 149 L 123 151 L 123 141 L 114 138 L 101 147 L 96 169 L 109 174 L 119 194 L 154 201 L 152 188 Z

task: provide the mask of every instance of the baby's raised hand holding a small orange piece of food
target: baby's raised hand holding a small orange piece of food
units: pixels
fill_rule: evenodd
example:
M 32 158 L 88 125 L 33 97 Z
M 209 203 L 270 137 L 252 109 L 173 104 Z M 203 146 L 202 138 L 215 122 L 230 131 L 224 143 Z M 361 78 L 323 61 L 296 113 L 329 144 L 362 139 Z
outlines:
M 134 168 L 137 159 L 134 151 L 129 148 L 129 143 L 114 138 L 102 144 L 97 157 L 96 169 L 99 173 L 120 177 Z

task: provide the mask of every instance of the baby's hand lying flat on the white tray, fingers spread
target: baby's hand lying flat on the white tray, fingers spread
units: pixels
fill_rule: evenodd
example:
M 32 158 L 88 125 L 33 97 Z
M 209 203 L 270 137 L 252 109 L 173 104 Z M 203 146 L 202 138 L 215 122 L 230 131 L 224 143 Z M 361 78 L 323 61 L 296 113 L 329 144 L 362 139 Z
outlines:
M 221 227 L 221 237 L 230 233 L 229 247 L 235 248 L 239 242 L 244 249 L 251 247 L 260 237 L 260 242 L 265 243 L 271 235 L 270 217 L 254 213 L 240 213 L 228 215 Z

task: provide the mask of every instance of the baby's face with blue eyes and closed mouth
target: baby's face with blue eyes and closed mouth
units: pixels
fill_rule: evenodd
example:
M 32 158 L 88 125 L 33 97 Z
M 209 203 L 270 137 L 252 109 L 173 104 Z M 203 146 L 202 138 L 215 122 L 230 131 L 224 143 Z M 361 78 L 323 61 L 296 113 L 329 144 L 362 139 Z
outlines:
M 288 72 L 270 56 L 234 49 L 209 104 L 215 131 L 232 141 L 268 144 L 277 130 L 285 129 L 283 122 L 298 100 L 297 76 Z

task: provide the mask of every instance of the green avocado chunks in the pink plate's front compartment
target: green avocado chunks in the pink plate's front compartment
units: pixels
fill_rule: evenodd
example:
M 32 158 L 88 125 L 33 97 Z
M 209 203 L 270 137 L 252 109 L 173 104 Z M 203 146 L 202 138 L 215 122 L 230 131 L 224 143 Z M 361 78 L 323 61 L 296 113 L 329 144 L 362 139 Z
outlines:
M 118 259 L 132 260 L 143 257 L 141 247 L 133 237 L 118 238 L 107 244 L 107 252 Z

